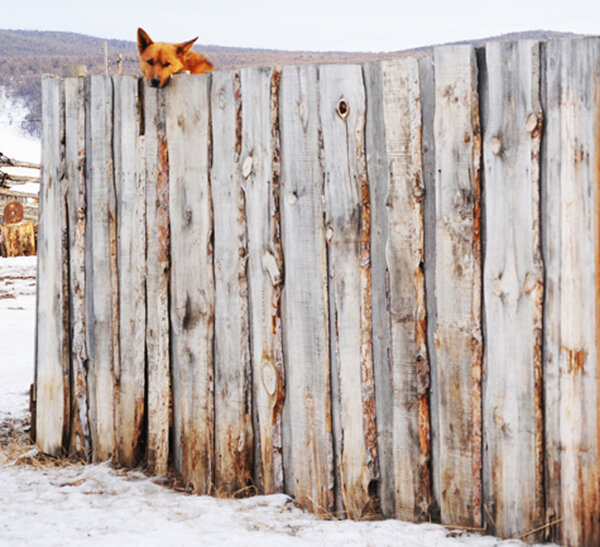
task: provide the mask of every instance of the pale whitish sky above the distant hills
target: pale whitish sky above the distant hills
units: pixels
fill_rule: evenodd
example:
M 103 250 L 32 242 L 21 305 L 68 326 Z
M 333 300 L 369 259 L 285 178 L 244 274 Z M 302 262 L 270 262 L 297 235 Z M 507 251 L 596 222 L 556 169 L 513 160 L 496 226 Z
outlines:
M 5 29 L 288 50 L 396 51 L 523 30 L 600 34 L 595 0 L 14 0 Z

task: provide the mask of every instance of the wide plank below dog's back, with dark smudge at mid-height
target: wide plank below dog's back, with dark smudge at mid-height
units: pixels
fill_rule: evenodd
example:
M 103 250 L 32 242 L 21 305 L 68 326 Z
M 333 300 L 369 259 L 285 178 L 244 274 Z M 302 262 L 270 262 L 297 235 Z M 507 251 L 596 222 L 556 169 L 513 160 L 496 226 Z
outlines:
M 208 493 L 214 467 L 214 273 L 209 188 L 210 76 L 169 84 L 171 370 L 175 468 Z

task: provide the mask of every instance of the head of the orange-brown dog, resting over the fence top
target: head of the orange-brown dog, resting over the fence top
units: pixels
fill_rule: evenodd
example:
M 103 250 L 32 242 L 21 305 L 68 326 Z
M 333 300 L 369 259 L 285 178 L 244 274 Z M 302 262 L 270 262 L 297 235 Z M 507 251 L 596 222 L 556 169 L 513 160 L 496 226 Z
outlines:
M 181 44 L 153 42 L 148 33 L 138 29 L 140 69 L 149 86 L 164 87 L 172 74 L 186 70 L 184 56 L 198 37 Z

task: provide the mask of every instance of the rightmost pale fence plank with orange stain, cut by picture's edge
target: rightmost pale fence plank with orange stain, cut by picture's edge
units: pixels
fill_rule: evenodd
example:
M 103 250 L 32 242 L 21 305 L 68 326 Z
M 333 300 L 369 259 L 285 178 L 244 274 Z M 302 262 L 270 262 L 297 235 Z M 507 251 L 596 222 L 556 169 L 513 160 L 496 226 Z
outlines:
M 600 40 L 561 40 L 547 45 L 547 196 L 549 241 L 545 371 L 550 382 L 546 448 L 559 472 L 548 474 L 548 492 L 560 489 L 558 540 L 565 545 L 600 542 Z M 592 76 L 594 75 L 594 76 Z M 552 87 L 550 87 L 552 83 Z M 551 147 L 551 148 L 550 148 Z M 558 195 L 558 197 L 555 197 Z M 560 199 L 560 201 L 558 201 Z M 560 205 L 559 205 L 560 204 Z M 559 222 L 550 220 L 559 213 Z M 558 289 L 558 290 L 555 290 Z M 558 363 L 556 363 L 558 358 Z M 558 393 L 556 393 L 558 389 Z M 547 428 L 548 429 L 548 428 Z M 558 452 L 558 453 L 557 453 Z M 557 484 L 559 482 L 559 484 Z M 557 510 L 549 500 L 549 510 Z

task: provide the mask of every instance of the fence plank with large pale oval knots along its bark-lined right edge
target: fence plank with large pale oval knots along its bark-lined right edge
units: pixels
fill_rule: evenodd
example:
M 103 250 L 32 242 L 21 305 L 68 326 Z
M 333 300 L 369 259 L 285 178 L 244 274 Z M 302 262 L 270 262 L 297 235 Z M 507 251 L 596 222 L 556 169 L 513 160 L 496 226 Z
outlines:
M 253 374 L 255 482 L 263 494 L 283 491 L 281 340 L 283 256 L 279 231 L 277 68 L 240 72 L 242 186 L 248 233 L 248 297 Z

